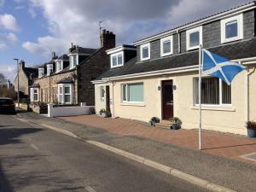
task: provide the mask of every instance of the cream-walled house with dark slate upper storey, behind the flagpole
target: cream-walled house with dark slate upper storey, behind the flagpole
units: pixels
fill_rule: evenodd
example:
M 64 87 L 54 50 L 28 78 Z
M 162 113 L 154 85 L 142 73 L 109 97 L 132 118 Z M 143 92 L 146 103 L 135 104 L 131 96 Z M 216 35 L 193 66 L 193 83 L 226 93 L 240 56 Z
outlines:
M 110 108 L 113 117 L 146 122 L 175 116 L 183 128 L 198 128 L 201 44 L 247 68 L 230 86 L 216 78 L 202 79 L 203 129 L 245 135 L 245 122 L 256 120 L 255 10 L 255 2 L 247 3 L 138 40 L 131 48 L 137 56 L 128 61 L 127 46 L 109 49 L 111 68 L 93 81 L 96 113 Z

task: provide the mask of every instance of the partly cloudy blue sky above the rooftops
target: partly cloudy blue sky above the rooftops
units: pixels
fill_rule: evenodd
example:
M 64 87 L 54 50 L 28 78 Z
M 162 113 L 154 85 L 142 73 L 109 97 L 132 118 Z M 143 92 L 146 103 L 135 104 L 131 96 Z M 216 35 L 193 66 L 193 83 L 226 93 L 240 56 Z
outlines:
M 16 61 L 38 66 L 70 44 L 98 48 L 99 21 L 132 44 L 252 0 L 0 0 L 0 73 L 14 81 Z

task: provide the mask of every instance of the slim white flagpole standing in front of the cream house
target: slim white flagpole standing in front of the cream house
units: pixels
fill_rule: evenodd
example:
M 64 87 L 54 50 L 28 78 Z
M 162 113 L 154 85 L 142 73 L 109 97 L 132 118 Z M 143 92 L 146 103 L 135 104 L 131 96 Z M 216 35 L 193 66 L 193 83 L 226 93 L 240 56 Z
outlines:
M 198 102 L 199 102 L 199 150 L 201 150 L 201 63 L 202 63 L 202 48 L 199 47 L 199 80 L 198 80 Z

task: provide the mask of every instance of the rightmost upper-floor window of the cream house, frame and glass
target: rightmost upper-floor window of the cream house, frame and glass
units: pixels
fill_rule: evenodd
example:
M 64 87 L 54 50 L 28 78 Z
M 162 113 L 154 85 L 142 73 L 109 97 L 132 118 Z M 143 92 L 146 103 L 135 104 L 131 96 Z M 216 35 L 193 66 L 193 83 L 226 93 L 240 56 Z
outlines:
M 236 41 L 243 38 L 242 14 L 221 20 L 221 43 Z

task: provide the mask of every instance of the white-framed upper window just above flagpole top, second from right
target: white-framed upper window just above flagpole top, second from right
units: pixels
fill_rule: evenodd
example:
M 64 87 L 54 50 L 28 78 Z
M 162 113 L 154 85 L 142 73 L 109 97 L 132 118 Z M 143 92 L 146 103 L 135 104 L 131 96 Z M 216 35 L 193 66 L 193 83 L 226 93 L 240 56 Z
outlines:
M 187 50 L 198 49 L 202 44 L 202 26 L 190 29 L 186 32 Z

